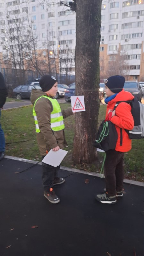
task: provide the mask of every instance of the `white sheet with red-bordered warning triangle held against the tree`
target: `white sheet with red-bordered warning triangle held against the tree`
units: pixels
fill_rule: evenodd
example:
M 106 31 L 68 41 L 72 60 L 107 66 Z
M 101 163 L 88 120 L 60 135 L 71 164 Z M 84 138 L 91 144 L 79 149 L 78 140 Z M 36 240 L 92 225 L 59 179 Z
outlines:
M 71 106 L 73 112 L 85 111 L 84 96 L 71 96 Z

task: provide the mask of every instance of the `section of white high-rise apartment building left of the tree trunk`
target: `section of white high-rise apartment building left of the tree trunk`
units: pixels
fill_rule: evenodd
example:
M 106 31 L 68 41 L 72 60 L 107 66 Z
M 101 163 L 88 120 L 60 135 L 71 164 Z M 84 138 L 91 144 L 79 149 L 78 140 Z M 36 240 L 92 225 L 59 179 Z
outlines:
M 57 0 L 0 0 L 1 66 L 6 67 L 12 51 L 22 59 L 21 46 L 25 68 L 32 68 L 28 60 L 35 58 L 44 68 L 51 62 L 52 72 L 75 74 L 75 22 L 75 13 Z M 60 59 L 59 69 L 56 59 Z

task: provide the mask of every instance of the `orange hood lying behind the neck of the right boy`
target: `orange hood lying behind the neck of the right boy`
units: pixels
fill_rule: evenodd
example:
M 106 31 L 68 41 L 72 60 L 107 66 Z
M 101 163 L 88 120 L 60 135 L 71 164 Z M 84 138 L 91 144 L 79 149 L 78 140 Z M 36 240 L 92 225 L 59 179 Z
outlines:
M 130 92 L 124 91 L 123 89 L 121 92 L 119 92 L 116 95 L 116 97 L 113 100 L 108 102 L 108 104 L 114 104 L 117 101 L 127 101 L 127 100 L 133 100 L 133 99 L 134 99 L 134 96 Z

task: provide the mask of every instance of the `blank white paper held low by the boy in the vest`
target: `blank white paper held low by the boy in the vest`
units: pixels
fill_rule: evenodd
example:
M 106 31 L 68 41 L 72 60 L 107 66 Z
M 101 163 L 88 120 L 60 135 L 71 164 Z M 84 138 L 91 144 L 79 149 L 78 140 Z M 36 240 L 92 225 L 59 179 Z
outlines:
M 48 154 L 43 158 L 42 162 L 57 167 L 61 164 L 67 153 L 68 151 L 63 149 L 59 149 L 58 151 L 53 151 L 51 149 Z

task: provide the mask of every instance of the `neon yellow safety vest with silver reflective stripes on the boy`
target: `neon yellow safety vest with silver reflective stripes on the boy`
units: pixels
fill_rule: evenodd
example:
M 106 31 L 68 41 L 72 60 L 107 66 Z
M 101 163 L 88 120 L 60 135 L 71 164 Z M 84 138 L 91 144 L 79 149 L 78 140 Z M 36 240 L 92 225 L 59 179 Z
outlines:
M 35 105 L 36 105 L 36 102 L 42 97 L 49 99 L 52 103 L 53 111 L 51 112 L 51 120 L 50 120 L 52 131 L 57 132 L 57 131 L 63 130 L 65 128 L 65 125 L 64 125 L 63 116 L 61 113 L 61 108 L 59 103 L 57 102 L 56 99 L 52 99 L 48 96 L 43 95 L 35 101 L 34 107 L 33 107 L 33 116 L 34 116 L 35 125 L 36 125 L 36 132 L 39 133 L 40 129 L 39 129 L 38 120 L 36 116 Z

